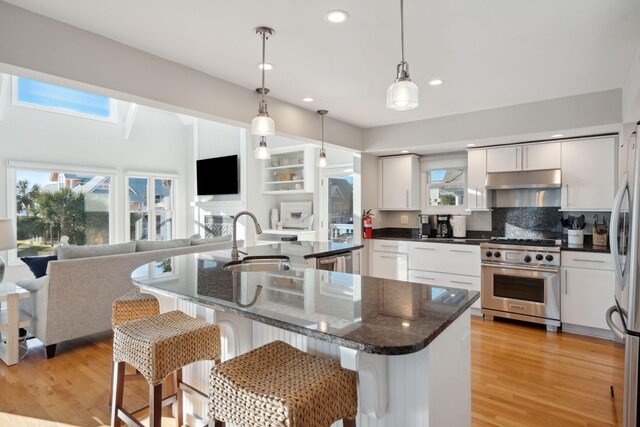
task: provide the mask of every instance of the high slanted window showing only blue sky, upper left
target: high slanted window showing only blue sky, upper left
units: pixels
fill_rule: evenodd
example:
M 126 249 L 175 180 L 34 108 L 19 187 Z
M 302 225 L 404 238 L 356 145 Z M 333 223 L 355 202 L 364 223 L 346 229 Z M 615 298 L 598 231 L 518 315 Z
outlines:
M 14 104 L 74 116 L 116 121 L 116 104 L 109 97 L 50 83 L 14 77 Z

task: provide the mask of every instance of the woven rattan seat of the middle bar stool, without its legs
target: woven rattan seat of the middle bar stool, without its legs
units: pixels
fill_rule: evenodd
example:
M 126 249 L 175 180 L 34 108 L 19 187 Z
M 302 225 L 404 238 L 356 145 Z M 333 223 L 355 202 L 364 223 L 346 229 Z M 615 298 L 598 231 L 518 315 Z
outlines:
M 113 361 L 127 362 L 151 385 L 199 360 L 220 358 L 220 329 L 181 311 L 117 325 Z

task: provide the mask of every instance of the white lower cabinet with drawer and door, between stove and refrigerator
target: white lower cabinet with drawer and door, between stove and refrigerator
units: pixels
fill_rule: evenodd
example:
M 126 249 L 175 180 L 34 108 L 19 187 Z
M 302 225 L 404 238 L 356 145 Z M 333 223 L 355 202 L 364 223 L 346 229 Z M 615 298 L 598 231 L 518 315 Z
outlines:
M 615 276 L 611 256 L 565 251 L 561 260 L 562 328 L 590 335 L 610 336 L 605 313 L 615 304 Z M 602 331 L 575 330 L 575 326 Z

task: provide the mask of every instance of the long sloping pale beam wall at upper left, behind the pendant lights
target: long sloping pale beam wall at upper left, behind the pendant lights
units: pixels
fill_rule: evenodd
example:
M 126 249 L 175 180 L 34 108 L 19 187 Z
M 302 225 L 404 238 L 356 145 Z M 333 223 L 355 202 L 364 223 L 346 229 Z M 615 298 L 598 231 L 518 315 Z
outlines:
M 243 127 L 257 112 L 253 90 L 1 1 L 0 71 Z M 320 140 L 315 111 L 270 97 L 269 113 L 282 135 Z M 361 148 L 360 128 L 331 117 L 325 126 L 331 143 Z

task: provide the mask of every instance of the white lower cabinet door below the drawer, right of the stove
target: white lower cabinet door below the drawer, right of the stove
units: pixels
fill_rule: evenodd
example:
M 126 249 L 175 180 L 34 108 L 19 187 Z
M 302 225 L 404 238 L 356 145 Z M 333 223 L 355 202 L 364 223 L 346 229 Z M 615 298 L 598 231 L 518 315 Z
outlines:
M 562 323 L 608 330 L 605 313 L 615 304 L 614 272 L 562 267 L 560 273 Z

